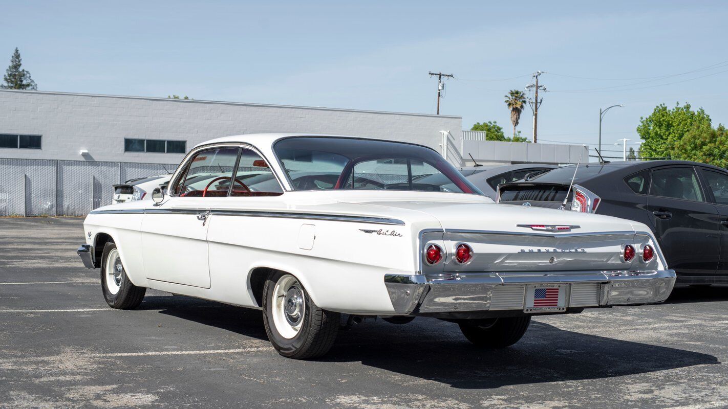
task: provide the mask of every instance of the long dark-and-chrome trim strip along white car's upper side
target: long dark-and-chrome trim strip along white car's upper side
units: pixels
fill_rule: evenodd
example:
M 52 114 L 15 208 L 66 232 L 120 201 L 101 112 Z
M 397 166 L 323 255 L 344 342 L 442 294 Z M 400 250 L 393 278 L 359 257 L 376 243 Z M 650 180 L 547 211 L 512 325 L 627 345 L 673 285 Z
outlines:
M 247 216 L 247 217 L 277 217 L 282 219 L 306 219 L 325 220 L 330 222 L 354 222 L 369 224 L 391 224 L 404 226 L 405 222 L 398 219 L 387 219 L 385 217 L 352 216 L 348 214 L 317 214 L 317 213 L 295 213 L 284 211 L 248 211 L 248 210 L 223 210 L 209 208 L 148 208 L 148 209 L 113 209 L 93 210 L 90 214 L 198 214 L 210 211 L 211 214 L 221 216 Z

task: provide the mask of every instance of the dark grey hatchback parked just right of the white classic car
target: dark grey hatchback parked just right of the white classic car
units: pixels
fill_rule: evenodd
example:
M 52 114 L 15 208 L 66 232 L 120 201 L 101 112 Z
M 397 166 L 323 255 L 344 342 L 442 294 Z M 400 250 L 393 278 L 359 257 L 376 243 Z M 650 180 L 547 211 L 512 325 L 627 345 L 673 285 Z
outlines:
M 499 203 L 647 224 L 679 283 L 728 283 L 728 171 L 687 161 L 563 166 L 499 185 Z M 574 187 L 569 190 L 571 179 Z

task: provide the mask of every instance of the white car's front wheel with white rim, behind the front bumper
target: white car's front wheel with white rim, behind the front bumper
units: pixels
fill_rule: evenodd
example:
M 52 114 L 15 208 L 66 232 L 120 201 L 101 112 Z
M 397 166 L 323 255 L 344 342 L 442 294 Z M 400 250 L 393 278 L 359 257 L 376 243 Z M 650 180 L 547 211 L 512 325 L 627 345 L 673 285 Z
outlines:
M 106 243 L 101 255 L 101 290 L 111 308 L 134 309 L 144 299 L 146 288 L 137 287 L 127 277 L 119 250 L 113 242 Z

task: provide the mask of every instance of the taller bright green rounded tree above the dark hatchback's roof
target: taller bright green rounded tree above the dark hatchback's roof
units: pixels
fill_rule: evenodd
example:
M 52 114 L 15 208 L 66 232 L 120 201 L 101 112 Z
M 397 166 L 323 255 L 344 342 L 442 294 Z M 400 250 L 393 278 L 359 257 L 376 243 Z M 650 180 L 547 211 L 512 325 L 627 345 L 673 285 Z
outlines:
M 643 157 L 672 157 L 673 148 L 694 126 L 711 126 L 711 117 L 703 108 L 692 110 L 689 103 L 668 109 L 657 105 L 646 118 L 640 118 L 637 134 L 644 140 L 640 148 Z

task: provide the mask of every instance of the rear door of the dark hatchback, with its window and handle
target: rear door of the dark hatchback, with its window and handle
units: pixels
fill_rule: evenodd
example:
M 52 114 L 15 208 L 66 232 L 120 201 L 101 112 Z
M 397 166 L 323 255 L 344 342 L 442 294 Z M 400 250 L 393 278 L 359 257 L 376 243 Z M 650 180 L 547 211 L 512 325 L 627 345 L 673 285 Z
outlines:
M 719 216 L 693 166 L 652 170 L 647 198 L 660 247 L 668 267 L 679 275 L 714 275 L 721 253 Z

